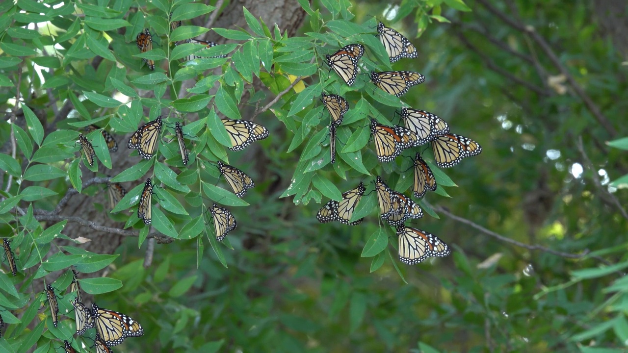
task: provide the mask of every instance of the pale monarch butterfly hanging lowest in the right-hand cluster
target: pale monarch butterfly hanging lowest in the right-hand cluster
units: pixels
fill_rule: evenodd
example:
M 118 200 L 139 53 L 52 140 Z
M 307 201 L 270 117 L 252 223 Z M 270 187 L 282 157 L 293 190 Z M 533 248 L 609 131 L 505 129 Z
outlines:
M 399 259 L 406 264 L 416 264 L 429 258 L 444 258 L 452 251 L 445 242 L 428 232 L 401 225 L 397 227 L 399 237 Z

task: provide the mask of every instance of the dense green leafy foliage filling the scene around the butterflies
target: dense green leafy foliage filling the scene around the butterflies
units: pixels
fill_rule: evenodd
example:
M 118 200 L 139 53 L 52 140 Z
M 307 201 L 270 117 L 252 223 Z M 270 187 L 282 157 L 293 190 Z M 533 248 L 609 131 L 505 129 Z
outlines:
M 247 28 L 198 26 L 218 3 L 0 4 L 0 222 L 17 265 L 13 276 L 3 258 L 0 350 L 52 352 L 64 340 L 94 350 L 93 329 L 74 335 L 73 268 L 84 301 L 141 323 L 144 334 L 116 351 L 624 351 L 628 90 L 617 42 L 600 31 L 604 13 L 585 2 L 566 11 L 558 1 L 300 0 L 306 16 L 293 36 L 246 8 Z M 379 20 L 418 58 L 391 64 Z M 141 53 L 144 28 L 152 49 Z M 366 48 L 352 86 L 323 63 L 350 43 Z M 398 99 L 374 87 L 370 70 L 426 81 Z M 333 165 L 322 92 L 349 102 Z M 369 119 L 401 124 L 393 112 L 404 106 L 445 119 L 482 154 L 447 170 L 428 145 L 378 161 Z M 127 140 L 158 116 L 156 156 L 142 159 Z M 254 121 L 270 136 L 229 151 L 221 119 Z M 87 132 L 92 124 L 103 129 Z M 453 252 L 406 265 L 372 181 L 411 194 L 417 151 L 438 188 L 417 200 L 426 215 L 409 225 Z M 256 187 L 236 197 L 219 160 Z M 137 212 L 149 177 L 150 226 Z M 128 190 L 113 212 L 107 182 Z M 360 182 L 367 192 L 352 220 L 362 224 L 317 221 L 321 204 Z M 214 202 L 237 219 L 222 242 Z M 96 250 L 107 234 L 124 238 L 114 254 Z

